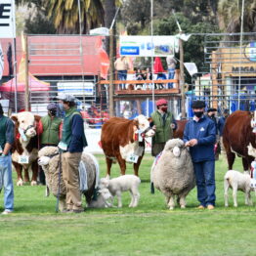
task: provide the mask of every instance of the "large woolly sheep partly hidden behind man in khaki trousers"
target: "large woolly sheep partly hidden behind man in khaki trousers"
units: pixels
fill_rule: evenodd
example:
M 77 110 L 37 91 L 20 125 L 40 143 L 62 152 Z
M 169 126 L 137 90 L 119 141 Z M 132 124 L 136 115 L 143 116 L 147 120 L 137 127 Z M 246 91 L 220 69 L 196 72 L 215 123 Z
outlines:
M 38 152 L 38 164 L 42 166 L 45 172 L 46 184 L 50 191 L 58 196 L 59 191 L 59 170 L 60 154 L 57 147 L 45 147 Z M 85 171 L 86 169 L 86 171 Z M 99 163 L 94 155 L 83 152 L 79 164 L 80 190 L 86 197 L 87 205 L 90 204 L 94 190 L 99 185 Z M 60 183 L 60 211 L 65 209 L 65 194 L 63 173 L 61 173 Z

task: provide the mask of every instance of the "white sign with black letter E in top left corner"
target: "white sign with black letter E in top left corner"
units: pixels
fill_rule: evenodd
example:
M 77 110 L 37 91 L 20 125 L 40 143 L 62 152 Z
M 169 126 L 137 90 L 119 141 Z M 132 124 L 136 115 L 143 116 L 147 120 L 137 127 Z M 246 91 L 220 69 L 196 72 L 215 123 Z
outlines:
M 15 38 L 15 1 L 0 1 L 0 38 Z

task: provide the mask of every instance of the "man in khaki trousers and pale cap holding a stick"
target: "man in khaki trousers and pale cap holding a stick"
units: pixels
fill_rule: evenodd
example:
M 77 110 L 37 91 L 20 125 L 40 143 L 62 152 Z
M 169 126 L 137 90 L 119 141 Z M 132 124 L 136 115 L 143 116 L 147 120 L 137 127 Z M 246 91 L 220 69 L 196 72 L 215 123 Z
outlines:
M 66 187 L 66 212 L 83 212 L 82 199 L 79 188 L 78 166 L 83 148 L 87 146 L 84 135 L 84 121 L 80 112 L 76 109 L 75 98 L 72 95 L 63 94 L 58 97 L 64 109 L 64 125 L 62 140 L 59 148 L 63 151 L 63 178 Z

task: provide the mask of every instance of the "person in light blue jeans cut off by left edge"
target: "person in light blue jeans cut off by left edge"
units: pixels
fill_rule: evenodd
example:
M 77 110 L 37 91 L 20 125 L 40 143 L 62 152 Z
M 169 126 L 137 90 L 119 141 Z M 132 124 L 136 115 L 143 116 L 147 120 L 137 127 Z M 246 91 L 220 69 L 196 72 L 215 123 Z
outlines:
M 4 188 L 4 207 L 2 214 L 14 211 L 14 185 L 12 179 L 11 148 L 14 144 L 14 123 L 4 115 L 0 104 L 0 190 Z

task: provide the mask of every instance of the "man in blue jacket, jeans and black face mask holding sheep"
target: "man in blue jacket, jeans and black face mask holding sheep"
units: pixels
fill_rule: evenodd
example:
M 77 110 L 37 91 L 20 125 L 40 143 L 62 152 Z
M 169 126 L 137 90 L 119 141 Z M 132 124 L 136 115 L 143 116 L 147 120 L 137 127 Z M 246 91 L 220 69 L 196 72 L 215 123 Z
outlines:
M 216 141 L 215 123 L 204 113 L 205 103 L 192 102 L 193 118 L 185 127 L 184 142 L 190 147 L 193 171 L 197 187 L 199 209 L 215 207 L 215 157 L 214 144 Z

